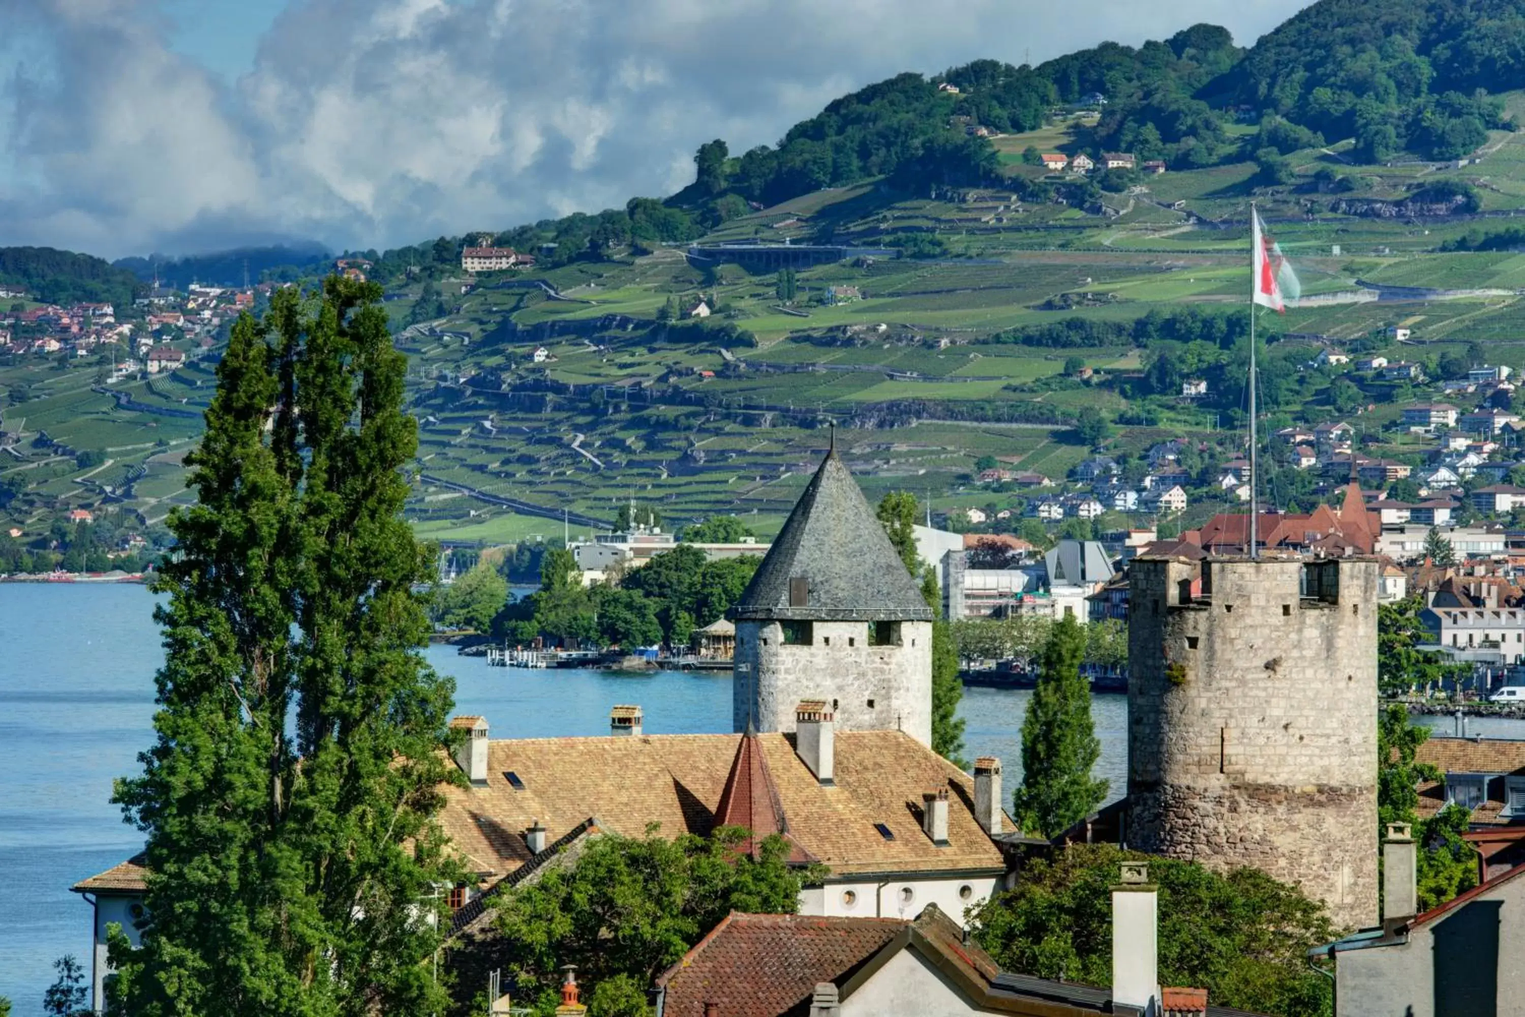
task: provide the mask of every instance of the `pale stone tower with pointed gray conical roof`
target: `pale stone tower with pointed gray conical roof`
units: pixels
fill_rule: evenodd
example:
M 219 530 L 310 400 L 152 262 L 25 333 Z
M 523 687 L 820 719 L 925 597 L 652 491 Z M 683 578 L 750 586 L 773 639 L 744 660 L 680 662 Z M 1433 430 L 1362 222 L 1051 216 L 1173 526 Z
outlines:
M 836 450 L 735 607 L 735 730 L 795 730 L 827 700 L 842 730 L 932 744 L 932 610 Z

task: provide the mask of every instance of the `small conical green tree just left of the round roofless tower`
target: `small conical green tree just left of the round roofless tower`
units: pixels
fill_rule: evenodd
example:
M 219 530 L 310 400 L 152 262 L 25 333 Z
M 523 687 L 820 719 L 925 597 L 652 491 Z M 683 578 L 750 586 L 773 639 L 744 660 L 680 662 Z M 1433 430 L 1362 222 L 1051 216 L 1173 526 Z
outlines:
M 1066 614 L 1049 633 L 1039 683 L 1022 721 L 1022 787 L 1013 813 L 1017 825 L 1055 837 L 1092 813 L 1107 796 L 1093 781 L 1101 743 L 1090 723 L 1090 686 L 1080 677 L 1086 633 Z

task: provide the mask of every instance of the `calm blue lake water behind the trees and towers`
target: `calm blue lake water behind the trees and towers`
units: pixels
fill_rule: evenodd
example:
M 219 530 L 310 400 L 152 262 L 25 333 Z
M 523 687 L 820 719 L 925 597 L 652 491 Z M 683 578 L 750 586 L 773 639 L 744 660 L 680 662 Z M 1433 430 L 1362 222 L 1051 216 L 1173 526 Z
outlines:
M 142 848 L 110 796 L 152 735 L 152 602 L 139 585 L 0 584 L 0 996 L 14 1017 L 41 1017 L 56 958 L 88 967 L 90 906 L 69 887 Z M 648 733 L 730 730 L 729 675 L 488 668 L 450 646 L 427 657 L 454 675 L 456 711 L 486 717 L 494 738 L 604 735 L 616 703 L 639 703 Z M 1028 697 L 971 688 L 961 706 L 965 755 L 1000 756 L 1008 788 Z M 1125 697 L 1098 695 L 1093 717 L 1098 773 L 1119 797 Z

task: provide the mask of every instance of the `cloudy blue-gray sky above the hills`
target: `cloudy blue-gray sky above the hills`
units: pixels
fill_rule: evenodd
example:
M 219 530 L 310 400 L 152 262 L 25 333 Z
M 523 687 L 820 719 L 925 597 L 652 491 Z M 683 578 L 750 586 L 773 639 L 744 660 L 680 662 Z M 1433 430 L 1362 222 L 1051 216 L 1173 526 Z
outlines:
M 0 245 L 386 249 L 662 197 L 903 70 L 1302 0 L 0 0 Z

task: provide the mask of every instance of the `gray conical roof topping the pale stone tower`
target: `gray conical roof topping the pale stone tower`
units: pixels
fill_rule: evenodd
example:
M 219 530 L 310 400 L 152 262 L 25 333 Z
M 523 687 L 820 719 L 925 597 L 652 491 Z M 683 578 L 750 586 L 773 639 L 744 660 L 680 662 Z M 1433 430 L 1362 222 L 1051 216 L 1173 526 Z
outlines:
M 795 578 L 808 584 L 805 607 L 790 607 Z M 932 608 L 833 450 L 758 566 L 735 618 L 932 621 Z

